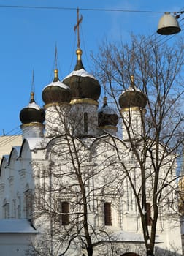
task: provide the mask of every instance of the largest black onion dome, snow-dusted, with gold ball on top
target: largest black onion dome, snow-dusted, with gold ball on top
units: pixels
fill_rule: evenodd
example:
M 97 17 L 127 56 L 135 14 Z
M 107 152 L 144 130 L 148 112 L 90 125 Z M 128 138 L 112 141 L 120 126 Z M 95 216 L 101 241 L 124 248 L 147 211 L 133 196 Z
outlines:
M 99 81 L 85 71 L 81 60 L 82 50 L 78 49 L 74 71 L 64 78 L 63 83 L 70 87 L 72 99 L 98 100 L 101 93 Z

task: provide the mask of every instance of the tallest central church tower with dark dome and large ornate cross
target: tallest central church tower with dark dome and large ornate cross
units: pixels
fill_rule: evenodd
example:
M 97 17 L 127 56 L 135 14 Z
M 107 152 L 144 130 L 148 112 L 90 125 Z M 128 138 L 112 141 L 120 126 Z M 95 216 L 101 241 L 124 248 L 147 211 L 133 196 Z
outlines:
M 71 89 L 72 99 L 70 104 L 71 112 L 71 127 L 72 135 L 79 138 L 95 137 L 98 127 L 98 99 L 101 93 L 99 81 L 85 71 L 81 59 L 82 50 L 80 49 L 79 26 L 82 21 L 82 16 L 79 18 L 77 10 L 77 64 L 74 71 L 64 78 L 63 83 Z

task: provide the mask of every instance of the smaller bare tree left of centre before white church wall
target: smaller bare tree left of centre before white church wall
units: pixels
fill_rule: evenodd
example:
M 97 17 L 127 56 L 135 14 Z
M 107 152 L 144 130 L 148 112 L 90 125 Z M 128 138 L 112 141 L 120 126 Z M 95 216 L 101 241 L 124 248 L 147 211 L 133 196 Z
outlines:
M 68 129 L 63 109 L 57 106 L 55 113 L 58 128 L 56 123 L 47 124 L 47 134 L 54 128 L 56 136 L 37 146 L 35 152 L 45 148 L 45 157 L 32 162 L 37 181 L 33 222 L 42 230 L 39 242 L 33 243 L 33 254 L 77 255 L 80 251 L 92 256 L 95 248 L 101 255 L 113 255 L 108 227 L 112 225 L 111 208 L 119 211 L 125 175 L 117 161 L 117 142 L 107 135 L 77 138 L 74 115 L 72 129 Z

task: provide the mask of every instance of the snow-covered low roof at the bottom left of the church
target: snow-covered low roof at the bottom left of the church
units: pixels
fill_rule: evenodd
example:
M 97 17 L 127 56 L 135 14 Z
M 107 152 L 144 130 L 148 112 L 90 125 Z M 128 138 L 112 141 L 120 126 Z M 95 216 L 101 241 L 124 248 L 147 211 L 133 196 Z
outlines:
M 27 219 L 0 219 L 0 233 L 38 233 Z

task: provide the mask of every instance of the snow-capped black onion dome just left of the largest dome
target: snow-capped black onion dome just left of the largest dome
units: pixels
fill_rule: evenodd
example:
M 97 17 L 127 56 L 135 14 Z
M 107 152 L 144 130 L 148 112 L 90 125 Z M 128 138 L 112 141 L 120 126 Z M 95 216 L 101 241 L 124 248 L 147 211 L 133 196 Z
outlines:
M 42 99 L 45 104 L 55 103 L 55 102 L 70 102 L 71 91 L 69 86 L 61 83 L 58 78 L 58 69 L 54 70 L 55 78 L 52 83 L 45 86 L 42 91 Z

